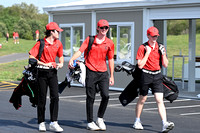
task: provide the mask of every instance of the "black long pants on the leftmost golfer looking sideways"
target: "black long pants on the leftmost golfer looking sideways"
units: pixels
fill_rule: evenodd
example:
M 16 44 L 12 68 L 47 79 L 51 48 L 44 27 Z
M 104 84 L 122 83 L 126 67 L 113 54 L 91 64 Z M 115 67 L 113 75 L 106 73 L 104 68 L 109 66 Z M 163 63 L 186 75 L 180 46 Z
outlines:
M 45 121 L 47 88 L 50 90 L 50 120 L 58 117 L 58 78 L 56 69 L 38 69 L 38 123 Z

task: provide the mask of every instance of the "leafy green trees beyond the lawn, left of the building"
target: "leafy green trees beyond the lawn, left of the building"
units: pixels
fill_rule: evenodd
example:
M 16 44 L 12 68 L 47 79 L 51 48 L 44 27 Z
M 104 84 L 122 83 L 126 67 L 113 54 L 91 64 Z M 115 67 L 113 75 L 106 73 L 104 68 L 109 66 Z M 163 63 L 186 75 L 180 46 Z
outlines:
M 33 40 L 35 31 L 44 33 L 47 23 L 48 15 L 40 14 L 38 7 L 33 4 L 21 3 L 7 8 L 0 5 L 0 37 L 8 32 L 12 38 L 12 33 L 17 31 L 20 38 Z

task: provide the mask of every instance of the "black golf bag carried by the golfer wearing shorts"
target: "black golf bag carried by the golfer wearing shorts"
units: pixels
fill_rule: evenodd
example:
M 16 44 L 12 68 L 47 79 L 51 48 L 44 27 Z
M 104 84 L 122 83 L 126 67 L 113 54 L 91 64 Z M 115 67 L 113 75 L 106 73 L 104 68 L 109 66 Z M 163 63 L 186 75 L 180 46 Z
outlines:
M 132 74 L 133 80 L 128 84 L 128 86 L 122 91 L 119 96 L 119 100 L 123 106 L 126 106 L 132 102 L 138 96 L 139 89 L 139 80 L 141 77 L 141 69 L 138 68 L 138 65 L 132 65 L 127 61 L 122 62 L 122 65 L 115 67 L 115 72 L 125 71 L 128 75 Z M 164 98 L 170 103 L 178 97 L 178 87 L 177 85 L 169 78 L 163 75 L 163 90 Z

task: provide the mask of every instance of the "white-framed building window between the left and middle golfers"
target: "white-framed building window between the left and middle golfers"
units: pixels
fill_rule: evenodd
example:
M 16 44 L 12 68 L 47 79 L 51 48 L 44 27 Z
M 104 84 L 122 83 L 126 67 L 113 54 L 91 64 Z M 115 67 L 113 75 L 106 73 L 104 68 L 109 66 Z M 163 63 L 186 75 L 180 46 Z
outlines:
M 61 42 L 63 44 L 63 55 L 70 59 L 79 50 L 85 35 L 84 24 L 60 24 L 63 29 L 61 32 Z

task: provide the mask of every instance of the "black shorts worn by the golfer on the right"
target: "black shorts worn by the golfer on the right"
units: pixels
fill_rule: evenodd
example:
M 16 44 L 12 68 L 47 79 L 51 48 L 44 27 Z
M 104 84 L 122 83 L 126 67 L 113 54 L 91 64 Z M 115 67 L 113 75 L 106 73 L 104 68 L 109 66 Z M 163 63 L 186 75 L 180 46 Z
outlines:
M 162 84 L 162 73 L 158 74 L 148 74 L 142 72 L 140 80 L 140 95 L 146 96 L 148 94 L 149 88 L 151 88 L 152 94 L 163 93 Z

